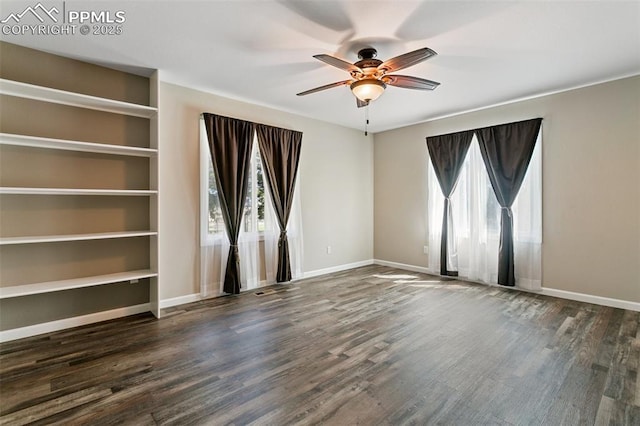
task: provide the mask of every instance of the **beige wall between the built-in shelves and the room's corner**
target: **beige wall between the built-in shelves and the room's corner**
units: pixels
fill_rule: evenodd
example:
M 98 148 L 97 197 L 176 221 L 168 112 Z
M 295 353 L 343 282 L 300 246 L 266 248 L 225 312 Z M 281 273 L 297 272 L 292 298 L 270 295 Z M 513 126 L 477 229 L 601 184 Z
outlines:
M 211 112 L 304 133 L 303 271 L 373 257 L 373 142 L 360 131 L 185 87 L 160 87 L 161 299 L 199 293 L 199 116 Z M 327 254 L 327 245 L 332 253 Z

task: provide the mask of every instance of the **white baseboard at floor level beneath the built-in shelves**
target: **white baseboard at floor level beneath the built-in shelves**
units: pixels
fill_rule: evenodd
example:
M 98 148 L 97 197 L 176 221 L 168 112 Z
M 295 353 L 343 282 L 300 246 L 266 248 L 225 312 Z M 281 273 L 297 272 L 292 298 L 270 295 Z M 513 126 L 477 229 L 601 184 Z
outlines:
M 94 322 L 107 321 L 110 319 L 121 318 L 150 311 L 151 304 L 143 303 L 141 305 L 126 306 L 124 308 L 111 309 L 109 311 L 95 312 L 93 314 L 81 315 L 78 317 L 65 318 L 57 321 L 29 325 L 27 327 L 4 330 L 0 331 L 0 342 L 8 342 L 10 340 L 22 339 L 25 337 L 36 336 L 38 334 L 51 333 L 53 331 L 60 331 L 67 328 L 78 327 L 81 325 L 92 324 Z

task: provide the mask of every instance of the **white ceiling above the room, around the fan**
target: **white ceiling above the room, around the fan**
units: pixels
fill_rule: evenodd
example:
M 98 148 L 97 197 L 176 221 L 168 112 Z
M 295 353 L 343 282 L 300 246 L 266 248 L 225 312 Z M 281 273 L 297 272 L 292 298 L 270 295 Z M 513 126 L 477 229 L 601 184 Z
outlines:
M 62 1 L 42 0 L 45 6 Z M 2 1 L 0 15 L 37 0 Z M 2 35 L 92 62 L 160 69 L 162 78 L 234 99 L 361 129 L 345 80 L 312 57 L 385 60 L 421 47 L 438 56 L 401 74 L 433 92 L 389 87 L 369 108 L 382 131 L 524 97 L 640 74 L 640 1 L 73 1 L 66 10 L 123 10 L 114 36 Z

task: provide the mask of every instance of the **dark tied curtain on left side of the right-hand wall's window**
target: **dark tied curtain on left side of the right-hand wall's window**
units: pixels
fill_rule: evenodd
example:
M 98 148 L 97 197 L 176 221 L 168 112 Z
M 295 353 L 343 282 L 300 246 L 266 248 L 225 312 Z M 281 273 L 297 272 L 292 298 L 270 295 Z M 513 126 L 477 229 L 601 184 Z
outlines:
M 429 136 L 427 148 L 431 164 L 440 183 L 444 195 L 444 212 L 442 213 L 442 236 L 440 239 L 440 274 L 457 276 L 458 271 L 450 271 L 447 266 L 449 217 L 451 216 L 451 194 L 458 183 L 462 163 L 467 156 L 473 130 L 451 133 L 448 135 Z

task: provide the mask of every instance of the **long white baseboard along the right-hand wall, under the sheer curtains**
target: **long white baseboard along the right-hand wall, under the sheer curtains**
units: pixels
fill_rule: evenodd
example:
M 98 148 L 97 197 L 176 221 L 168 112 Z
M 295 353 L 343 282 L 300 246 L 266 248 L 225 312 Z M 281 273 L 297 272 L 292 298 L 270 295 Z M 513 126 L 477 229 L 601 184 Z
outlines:
M 404 263 L 389 262 L 387 260 L 379 260 L 379 259 L 375 259 L 374 263 L 376 265 L 389 266 L 391 268 L 403 269 L 405 271 L 422 272 L 424 274 L 432 274 L 432 275 L 439 276 L 437 272 L 434 273 L 433 271 L 423 266 L 407 265 Z M 467 281 L 464 278 L 457 278 L 457 277 L 450 277 L 450 278 L 460 279 L 461 281 Z M 472 281 L 472 282 L 477 282 L 477 281 Z M 489 286 L 496 285 L 496 284 L 486 284 L 486 283 L 479 283 L 479 284 L 484 284 Z M 640 312 L 640 303 L 631 302 L 628 300 L 612 299 L 609 297 L 594 296 L 592 294 L 584 294 L 584 293 L 575 293 L 572 291 L 565 291 L 565 290 L 556 290 L 554 288 L 546 288 L 546 287 L 543 287 L 541 291 L 531 291 L 531 290 L 526 290 L 518 287 L 504 287 L 504 288 L 507 288 L 510 290 L 524 291 L 527 293 L 543 294 L 545 296 L 558 297 L 561 299 L 575 300 L 577 302 L 593 303 L 594 305 L 609 306 L 612 308 L 620 308 L 620 309 L 627 309 L 629 311 Z

